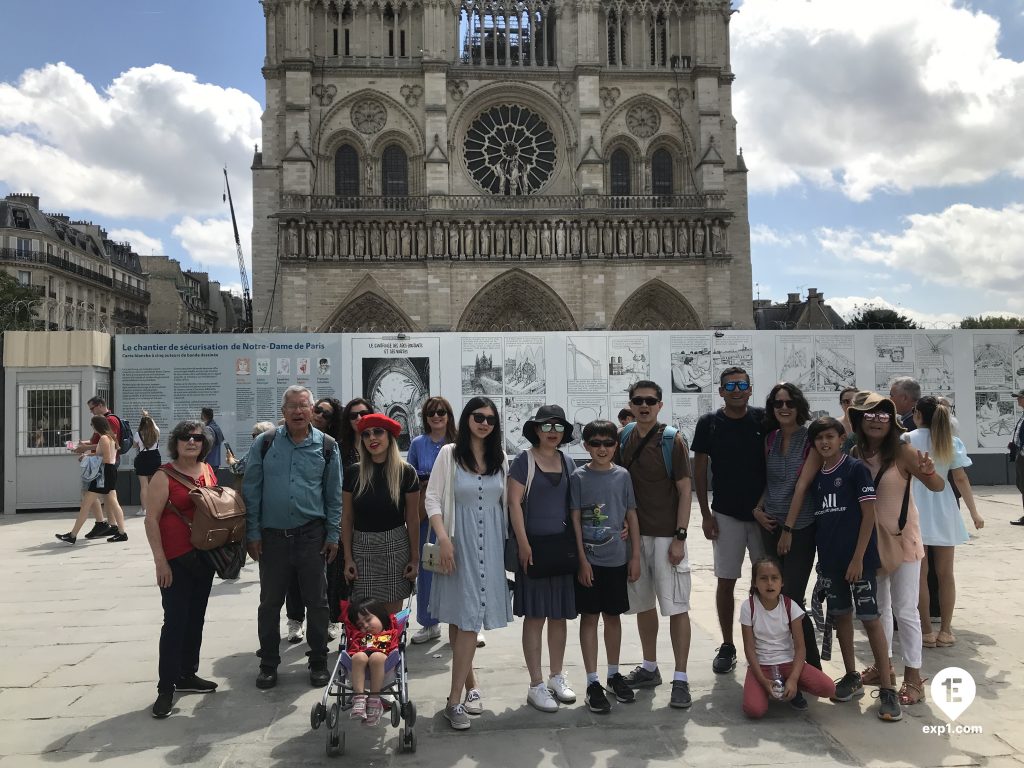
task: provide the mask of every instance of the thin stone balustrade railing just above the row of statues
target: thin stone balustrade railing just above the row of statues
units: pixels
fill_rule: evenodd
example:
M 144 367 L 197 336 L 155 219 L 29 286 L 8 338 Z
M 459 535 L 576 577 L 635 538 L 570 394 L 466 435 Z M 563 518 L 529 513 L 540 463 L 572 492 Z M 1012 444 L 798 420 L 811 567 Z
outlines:
M 283 195 L 283 215 L 291 211 L 656 211 L 715 212 L 725 208 L 723 193 L 695 195 Z

